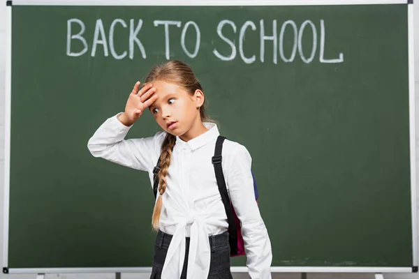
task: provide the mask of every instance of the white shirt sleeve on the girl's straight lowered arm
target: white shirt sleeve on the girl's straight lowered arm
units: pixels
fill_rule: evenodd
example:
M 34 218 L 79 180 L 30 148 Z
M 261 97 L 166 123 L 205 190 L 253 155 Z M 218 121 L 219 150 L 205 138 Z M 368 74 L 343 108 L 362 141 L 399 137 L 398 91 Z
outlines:
M 239 144 L 227 158 L 226 183 L 231 202 L 242 225 L 249 275 L 252 279 L 270 279 L 272 248 L 255 200 L 251 156 L 247 149 Z

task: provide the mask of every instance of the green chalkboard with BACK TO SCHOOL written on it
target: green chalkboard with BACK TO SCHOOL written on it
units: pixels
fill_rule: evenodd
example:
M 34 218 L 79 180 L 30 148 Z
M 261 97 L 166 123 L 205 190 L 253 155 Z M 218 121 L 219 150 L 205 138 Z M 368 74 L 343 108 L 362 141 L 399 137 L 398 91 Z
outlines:
M 406 4 L 11 10 L 8 268 L 152 265 L 148 174 L 87 141 L 167 59 L 249 149 L 272 266 L 412 266 Z

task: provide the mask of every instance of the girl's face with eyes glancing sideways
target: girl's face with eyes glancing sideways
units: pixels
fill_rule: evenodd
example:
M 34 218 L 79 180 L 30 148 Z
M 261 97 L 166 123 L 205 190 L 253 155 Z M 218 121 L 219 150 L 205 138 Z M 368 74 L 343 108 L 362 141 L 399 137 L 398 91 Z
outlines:
M 161 80 L 152 82 L 152 86 L 156 89 L 157 100 L 149 106 L 149 110 L 156 122 L 167 133 L 190 140 L 188 134 L 203 126 L 200 119 L 203 92 L 196 90 L 191 95 L 177 84 Z

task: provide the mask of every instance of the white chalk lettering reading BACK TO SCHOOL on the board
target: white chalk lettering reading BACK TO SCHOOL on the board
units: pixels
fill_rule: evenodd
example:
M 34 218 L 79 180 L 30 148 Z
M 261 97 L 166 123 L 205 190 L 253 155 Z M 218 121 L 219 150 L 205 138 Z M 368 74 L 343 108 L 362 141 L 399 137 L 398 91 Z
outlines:
M 296 55 L 299 55 L 301 61 L 304 63 L 314 63 L 317 55 L 320 63 L 344 62 L 343 52 L 338 52 L 337 55 L 325 54 L 325 20 L 320 20 L 320 27 L 312 20 L 302 21 L 300 27 L 297 27 L 295 21 L 286 20 L 279 27 L 277 20 L 273 19 L 272 29 L 270 28 L 271 20 L 265 22 L 263 18 L 258 19 L 258 22 L 255 20 L 240 20 L 240 22 L 244 22 L 242 25 L 236 25 L 233 20 L 221 20 L 217 23 L 216 35 L 214 34 L 213 38 L 203 37 L 203 33 L 201 33 L 197 22 L 192 20 L 186 20 L 185 22 L 185 24 L 182 24 L 181 21 L 175 20 L 150 20 L 147 24 L 143 24 L 145 22 L 142 19 L 130 19 L 128 49 L 126 49 L 126 42 L 119 41 L 117 38 L 126 38 L 126 35 L 128 35 L 128 19 L 114 18 L 110 21 L 105 20 L 103 22 L 102 19 L 98 18 L 94 27 L 91 24 L 89 28 L 82 20 L 71 18 L 67 20 L 66 55 L 75 57 L 87 54 L 94 57 L 103 53 L 103 56 L 111 55 L 113 59 L 117 60 L 127 59 L 128 57 L 133 60 L 134 52 L 140 50 L 142 59 L 146 59 L 147 54 L 140 40 L 140 31 L 147 27 L 151 28 L 151 30 L 146 31 L 150 33 L 150 31 L 153 31 L 152 29 L 156 30 L 156 27 L 163 25 L 165 49 L 164 51 L 161 50 L 161 52 L 164 52 L 167 60 L 175 55 L 173 52 L 170 52 L 170 43 L 173 43 L 170 40 L 180 39 L 180 46 L 184 54 L 190 59 L 197 59 L 198 54 L 207 51 L 212 52 L 221 61 L 232 61 L 238 55 L 240 57 L 237 59 L 243 61 L 244 65 L 256 63 L 258 59 L 260 59 L 261 63 L 266 63 L 265 60 L 267 59 L 274 64 L 278 64 L 278 53 L 280 60 L 285 63 L 293 63 Z M 172 25 L 177 28 L 182 28 L 182 30 L 173 29 L 171 27 Z M 109 26 L 109 30 L 105 29 L 104 26 L 107 28 Z M 258 30 L 259 27 L 260 30 Z M 312 38 L 309 29 L 311 29 Z M 156 33 L 155 30 L 154 33 Z M 117 36 L 118 32 L 121 32 L 125 36 Z M 91 33 L 94 34 L 93 38 L 87 38 L 87 34 Z M 206 35 L 210 36 L 211 34 Z M 254 36 L 258 36 L 259 41 L 255 42 L 253 40 Z M 221 39 L 221 43 L 219 39 Z M 215 47 L 217 41 L 221 45 Z M 266 50 L 270 52 L 270 45 L 267 45 L 270 44 L 270 41 L 272 41 L 273 50 L 272 60 L 270 59 L 270 55 L 267 55 L 269 58 L 265 57 Z M 333 43 L 333 41 L 330 43 Z M 156 45 L 155 35 L 152 36 L 150 45 Z M 210 45 L 214 45 L 214 47 L 208 49 Z M 98 50 L 98 47 L 103 47 L 103 52 L 101 49 Z M 135 50 L 137 47 L 138 50 Z M 257 50 L 258 47 L 260 47 L 259 50 Z M 160 56 L 161 54 L 156 54 L 156 50 L 154 50 L 153 59 L 154 56 Z M 202 55 L 205 57 L 207 54 Z M 338 57 L 335 59 L 325 59 L 325 55 Z

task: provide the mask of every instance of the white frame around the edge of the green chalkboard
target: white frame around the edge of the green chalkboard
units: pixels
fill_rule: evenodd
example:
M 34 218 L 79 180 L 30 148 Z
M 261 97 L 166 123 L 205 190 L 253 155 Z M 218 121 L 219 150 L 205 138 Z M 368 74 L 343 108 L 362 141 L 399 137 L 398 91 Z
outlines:
M 414 49 L 413 49 L 413 1 L 402 0 L 317 0 L 317 1 L 196 1 L 191 5 L 188 1 L 182 0 L 173 3 L 170 0 L 158 1 L 32 1 L 15 0 L 7 2 L 6 11 L 6 93 L 5 93 L 5 126 L 4 126 L 4 208 L 3 208 L 3 273 L 99 273 L 99 272 L 150 272 L 151 268 L 111 268 L 111 269 L 8 269 L 8 221 L 9 221 L 9 172 L 10 172 L 10 99 L 11 99 L 11 9 L 16 5 L 69 5 L 69 6 L 300 6 L 300 5 L 355 5 L 355 4 L 408 4 L 409 22 L 409 107 L 410 107 L 410 149 L 411 149 L 411 215 L 412 215 L 412 236 L 413 236 L 413 263 L 412 267 L 279 267 L 272 266 L 272 272 L 371 272 L 371 273 L 402 273 L 418 271 L 418 232 L 417 232 L 417 211 L 416 211 L 416 128 L 415 128 L 415 82 L 414 82 Z M 232 267 L 233 272 L 247 272 L 247 267 Z

